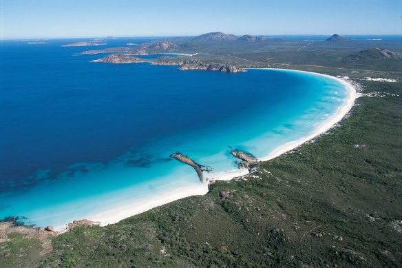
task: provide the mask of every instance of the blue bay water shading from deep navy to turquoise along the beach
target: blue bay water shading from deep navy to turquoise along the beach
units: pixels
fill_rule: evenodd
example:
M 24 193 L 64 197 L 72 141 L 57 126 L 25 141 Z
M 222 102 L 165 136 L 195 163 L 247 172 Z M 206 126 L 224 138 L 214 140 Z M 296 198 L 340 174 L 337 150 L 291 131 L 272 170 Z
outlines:
M 347 94 L 302 72 L 90 63 L 100 56 L 60 47 L 71 42 L 1 42 L 0 218 L 60 227 L 199 187 L 170 154 L 210 167 L 213 178 L 237 169 L 228 146 L 267 156 L 312 132 Z

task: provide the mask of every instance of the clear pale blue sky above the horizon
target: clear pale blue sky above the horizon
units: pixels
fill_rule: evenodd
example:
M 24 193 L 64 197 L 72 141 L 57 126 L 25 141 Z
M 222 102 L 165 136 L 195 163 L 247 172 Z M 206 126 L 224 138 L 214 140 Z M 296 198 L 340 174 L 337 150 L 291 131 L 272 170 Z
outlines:
M 401 0 L 0 0 L 0 39 L 402 34 Z

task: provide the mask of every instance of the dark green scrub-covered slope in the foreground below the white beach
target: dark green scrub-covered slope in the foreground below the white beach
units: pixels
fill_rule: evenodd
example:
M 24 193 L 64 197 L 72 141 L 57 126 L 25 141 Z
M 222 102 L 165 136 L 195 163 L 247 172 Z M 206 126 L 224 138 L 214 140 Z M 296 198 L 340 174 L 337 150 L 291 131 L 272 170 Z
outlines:
M 43 267 L 400 267 L 401 83 L 245 180 L 53 241 Z

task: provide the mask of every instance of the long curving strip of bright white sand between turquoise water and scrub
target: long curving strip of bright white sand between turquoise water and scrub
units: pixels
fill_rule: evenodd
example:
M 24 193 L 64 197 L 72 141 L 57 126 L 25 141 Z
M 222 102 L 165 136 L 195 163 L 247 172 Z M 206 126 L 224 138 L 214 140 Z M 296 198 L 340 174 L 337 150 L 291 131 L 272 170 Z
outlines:
M 268 68 L 259 68 L 259 69 L 260 70 L 271 70 Z M 286 70 L 286 69 L 273 69 L 273 70 Z M 286 71 L 304 72 L 304 71 L 298 71 L 298 70 L 286 70 Z M 297 141 L 291 141 L 284 145 L 280 145 L 267 156 L 258 158 L 258 161 L 268 161 L 281 154 L 284 154 L 285 152 L 295 149 L 299 145 L 305 143 L 306 141 L 310 141 L 312 138 L 315 138 L 316 136 L 319 136 L 320 134 L 323 134 L 324 132 L 327 132 L 336 123 L 341 121 L 341 119 L 346 114 L 348 114 L 348 112 L 352 108 L 353 104 L 355 103 L 355 99 L 357 98 L 357 92 L 356 92 L 355 86 L 352 85 L 351 83 L 344 81 L 342 79 L 339 79 L 335 76 L 329 76 L 326 74 L 318 74 L 315 72 L 305 72 L 305 73 L 311 73 L 311 74 L 315 74 L 315 75 L 326 76 L 330 79 L 335 79 L 336 81 L 338 81 L 339 83 L 344 85 L 346 87 L 346 89 L 348 90 L 347 98 L 343 100 L 343 104 L 341 105 L 341 107 L 339 107 L 337 109 L 337 112 L 335 112 L 335 114 L 332 114 L 331 116 L 326 118 L 326 120 L 319 122 L 317 124 L 317 126 L 315 127 L 315 129 L 313 130 L 313 132 L 310 132 L 310 134 L 308 134 L 307 136 L 304 136 L 303 138 L 300 138 Z M 218 181 L 229 181 L 232 178 L 235 178 L 238 176 L 244 176 L 246 174 L 248 174 L 247 169 L 233 169 L 231 172 L 221 172 L 221 173 L 215 173 L 215 174 L 214 173 L 211 173 L 211 174 L 206 173 L 205 177 L 213 179 L 213 180 L 218 180 Z M 130 216 L 134 216 L 136 214 L 146 212 L 149 209 L 158 207 L 160 205 L 165 205 L 167 203 L 171 203 L 171 202 L 181 199 L 181 198 L 207 194 L 208 185 L 209 185 L 209 182 L 207 181 L 204 183 L 200 183 L 200 185 L 197 185 L 196 187 L 180 187 L 180 188 L 175 189 L 173 192 L 165 193 L 162 195 L 157 195 L 154 198 L 142 200 L 139 203 L 136 202 L 136 203 L 131 203 L 131 204 L 123 205 L 120 207 L 116 207 L 116 209 L 112 209 L 112 210 L 108 210 L 106 212 L 102 212 L 100 214 L 96 214 L 87 219 L 96 221 L 96 222 L 100 222 L 101 226 L 109 225 L 112 223 L 118 223 L 118 221 L 123 220 L 125 218 L 129 218 Z M 65 226 L 55 227 L 55 229 L 56 229 L 56 231 L 63 232 L 63 231 L 65 231 Z

